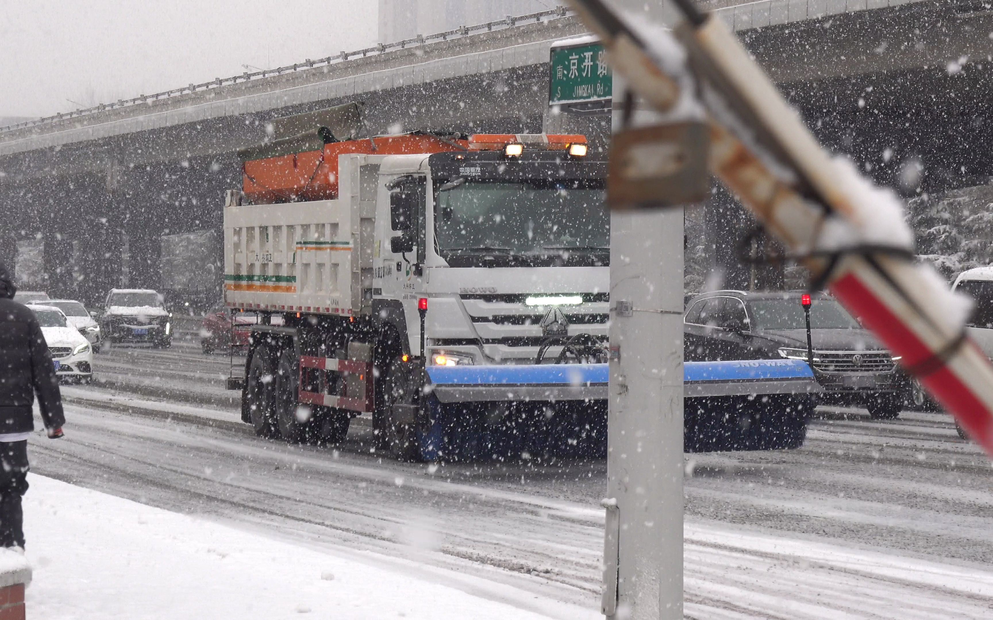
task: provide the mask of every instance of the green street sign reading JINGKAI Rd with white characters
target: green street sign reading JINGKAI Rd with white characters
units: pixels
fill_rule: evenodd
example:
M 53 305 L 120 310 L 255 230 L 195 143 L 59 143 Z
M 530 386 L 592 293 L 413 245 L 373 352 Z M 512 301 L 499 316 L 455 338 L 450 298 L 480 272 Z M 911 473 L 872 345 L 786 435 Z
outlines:
M 614 78 L 599 43 L 552 48 L 548 105 L 610 99 Z

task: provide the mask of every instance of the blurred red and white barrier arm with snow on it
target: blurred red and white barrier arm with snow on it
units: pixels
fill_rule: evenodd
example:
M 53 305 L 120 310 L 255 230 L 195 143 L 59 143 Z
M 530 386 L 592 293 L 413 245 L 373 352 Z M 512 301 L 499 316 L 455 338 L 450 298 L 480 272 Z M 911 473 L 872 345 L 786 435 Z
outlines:
M 811 288 L 826 285 L 993 456 L 993 366 L 965 335 L 968 303 L 916 262 L 897 197 L 829 157 L 734 34 L 690 0 L 675 0 L 676 37 L 603 0 L 569 1 L 650 106 L 702 108 L 710 171 L 808 269 Z

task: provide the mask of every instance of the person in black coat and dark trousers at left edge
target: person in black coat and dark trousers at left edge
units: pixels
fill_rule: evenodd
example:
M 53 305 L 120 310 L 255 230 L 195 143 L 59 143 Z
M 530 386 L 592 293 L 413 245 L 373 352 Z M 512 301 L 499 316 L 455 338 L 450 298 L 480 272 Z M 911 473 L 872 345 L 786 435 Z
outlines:
M 45 429 L 63 436 L 59 378 L 35 313 L 13 301 L 14 283 L 0 263 L 0 547 L 24 548 L 21 497 L 28 491 L 28 437 L 38 395 Z

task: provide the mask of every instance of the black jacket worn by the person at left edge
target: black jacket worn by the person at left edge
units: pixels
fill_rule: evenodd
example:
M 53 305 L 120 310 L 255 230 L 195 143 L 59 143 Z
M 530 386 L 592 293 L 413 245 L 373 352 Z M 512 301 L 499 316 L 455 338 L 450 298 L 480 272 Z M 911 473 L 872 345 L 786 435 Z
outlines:
M 13 301 L 14 284 L 0 264 L 0 434 L 35 430 L 38 406 L 47 429 L 66 424 L 59 378 L 35 313 Z

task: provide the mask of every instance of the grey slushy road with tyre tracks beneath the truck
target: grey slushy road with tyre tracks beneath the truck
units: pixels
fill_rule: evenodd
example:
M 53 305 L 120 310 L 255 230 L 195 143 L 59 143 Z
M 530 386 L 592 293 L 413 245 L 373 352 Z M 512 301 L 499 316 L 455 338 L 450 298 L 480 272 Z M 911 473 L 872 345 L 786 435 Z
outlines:
M 184 372 L 202 377 L 191 392 L 219 382 L 219 358 L 146 355 L 187 356 Z M 178 379 L 164 383 L 182 389 Z M 454 585 L 480 594 L 493 583 L 483 595 L 526 609 L 597 605 L 602 461 L 412 465 L 369 454 L 363 424 L 334 451 L 258 439 L 230 407 L 66 394 L 66 440 L 32 441 L 44 475 L 315 548 L 417 561 L 450 585 L 465 574 Z M 913 412 L 879 423 L 827 411 L 799 450 L 692 455 L 687 616 L 988 617 L 991 476 L 946 416 Z

